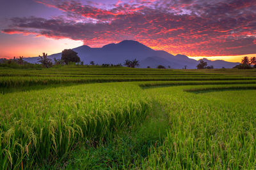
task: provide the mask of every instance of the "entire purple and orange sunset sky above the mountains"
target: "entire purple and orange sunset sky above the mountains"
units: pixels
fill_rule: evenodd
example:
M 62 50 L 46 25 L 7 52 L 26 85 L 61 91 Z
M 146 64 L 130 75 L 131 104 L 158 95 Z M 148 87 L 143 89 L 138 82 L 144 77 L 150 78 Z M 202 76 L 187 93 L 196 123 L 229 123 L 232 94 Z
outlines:
M 256 1 L 0 1 L 0 58 L 125 39 L 197 60 L 240 62 L 256 56 Z

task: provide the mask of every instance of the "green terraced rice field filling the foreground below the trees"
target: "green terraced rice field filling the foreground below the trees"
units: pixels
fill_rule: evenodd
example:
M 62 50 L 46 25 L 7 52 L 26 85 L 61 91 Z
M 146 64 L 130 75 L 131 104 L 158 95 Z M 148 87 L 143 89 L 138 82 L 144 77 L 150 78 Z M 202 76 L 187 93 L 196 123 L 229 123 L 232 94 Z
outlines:
M 0 68 L 0 169 L 255 169 L 255 73 Z

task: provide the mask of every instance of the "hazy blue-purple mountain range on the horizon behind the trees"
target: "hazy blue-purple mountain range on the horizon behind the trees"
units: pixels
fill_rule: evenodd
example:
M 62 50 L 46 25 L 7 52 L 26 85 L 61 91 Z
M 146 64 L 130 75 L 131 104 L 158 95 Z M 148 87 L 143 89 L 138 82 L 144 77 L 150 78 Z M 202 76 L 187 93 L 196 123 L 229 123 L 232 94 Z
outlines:
M 156 68 L 159 65 L 173 69 L 182 69 L 187 66 L 188 69 L 195 69 L 198 64 L 198 60 L 190 59 L 186 55 L 172 55 L 163 50 L 153 50 L 148 46 L 145 46 L 138 41 L 124 40 L 120 43 L 108 44 L 102 46 L 102 48 L 90 48 L 90 46 L 79 46 L 73 48 L 77 52 L 81 61 L 84 64 L 89 64 L 94 61 L 95 64 L 124 64 L 126 59 L 132 60 L 137 59 L 140 61 L 140 67 L 150 66 L 151 68 Z M 49 55 L 50 59 L 60 59 L 61 53 L 55 53 Z M 27 62 L 35 63 L 38 57 L 29 57 L 24 60 Z M 214 66 L 214 68 L 232 68 L 239 62 L 227 62 L 225 60 L 207 60 L 207 66 Z

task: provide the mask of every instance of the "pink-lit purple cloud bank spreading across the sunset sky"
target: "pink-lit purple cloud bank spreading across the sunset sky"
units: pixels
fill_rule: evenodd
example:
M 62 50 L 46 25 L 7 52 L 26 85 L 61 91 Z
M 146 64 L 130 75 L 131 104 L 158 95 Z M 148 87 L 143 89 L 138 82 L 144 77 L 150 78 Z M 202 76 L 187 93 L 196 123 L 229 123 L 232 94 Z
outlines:
M 256 53 L 256 1 L 252 0 L 120 1 L 108 9 L 77 1 L 40 3 L 65 15 L 48 20 L 12 18 L 13 24 L 3 32 L 71 38 L 92 46 L 136 39 L 190 56 Z

